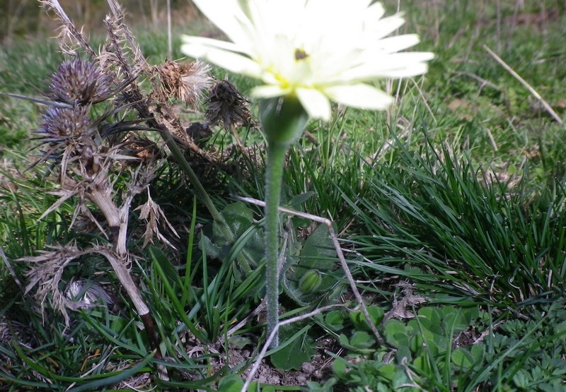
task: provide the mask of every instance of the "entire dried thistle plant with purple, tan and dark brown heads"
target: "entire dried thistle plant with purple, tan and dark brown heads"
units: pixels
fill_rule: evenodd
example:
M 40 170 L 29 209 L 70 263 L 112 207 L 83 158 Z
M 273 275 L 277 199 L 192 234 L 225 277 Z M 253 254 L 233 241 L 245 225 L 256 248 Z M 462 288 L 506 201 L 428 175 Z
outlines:
M 60 47 L 69 56 L 52 77 L 46 94 L 49 107 L 37 129 L 36 140 L 42 155 L 35 165 L 52 162 L 52 172 L 59 180 L 59 187 L 51 192 L 59 198 L 43 216 L 65 201 L 74 200 L 76 209 L 71 225 L 79 216 L 91 220 L 109 241 L 81 249 L 76 244 L 67 244 L 23 259 L 30 263 L 26 292 L 35 289 L 40 303 L 44 305 L 50 300 L 69 323 L 66 309 L 78 309 L 83 304 L 71 301 L 59 291 L 64 269 L 71 260 L 80 261 L 88 254 L 103 256 L 144 322 L 151 350 L 161 357 L 149 307 L 130 273 L 130 260 L 139 256 L 130 254 L 127 248 L 127 230 L 134 196 L 144 191 L 149 195 L 151 181 L 168 151 L 163 144 L 143 138 L 140 131 L 152 130 L 161 135 L 214 220 L 221 223 L 221 230 L 228 227 L 190 169 L 183 150 L 215 165 L 219 160 L 192 141 L 171 105 L 174 98 L 193 109 L 197 106 L 203 90 L 212 81 L 208 66 L 177 61 L 150 66 L 125 24 L 124 13 L 116 0 L 108 0 L 111 12 L 104 20 L 108 40 L 98 52 L 64 13 L 59 1 L 40 2 L 59 18 Z M 150 81 L 151 88 L 142 88 L 140 80 Z M 238 94 L 231 84 L 217 85 L 209 94 L 212 107 L 209 106 L 208 121 L 220 121 L 229 129 L 246 124 L 250 116 L 243 109 L 245 100 Z M 143 157 L 140 152 L 144 152 Z M 127 182 L 120 193 L 115 189 L 118 177 Z M 93 205 L 102 213 L 105 224 L 98 221 L 100 214 L 93 210 Z M 172 227 L 161 208 L 149 196 L 147 203 L 139 208 L 148 221 L 145 243 L 156 237 L 167 244 L 158 227 Z M 229 229 L 223 234 L 228 239 L 233 235 Z M 166 374 L 160 376 L 166 378 Z

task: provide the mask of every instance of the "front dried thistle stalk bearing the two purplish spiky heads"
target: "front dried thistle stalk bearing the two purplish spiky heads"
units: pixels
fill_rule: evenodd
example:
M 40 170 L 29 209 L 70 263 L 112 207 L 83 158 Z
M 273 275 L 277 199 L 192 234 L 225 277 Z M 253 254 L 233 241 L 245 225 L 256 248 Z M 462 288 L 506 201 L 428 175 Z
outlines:
M 112 85 L 120 87 L 112 89 Z M 149 317 L 149 308 L 141 298 L 139 289 L 129 273 L 126 232 L 132 199 L 149 186 L 159 163 L 157 160 L 145 162 L 131 172 L 129 191 L 123 198 L 122 204 L 118 205 L 115 201 L 113 184 L 115 177 L 121 173 L 120 170 L 117 171 L 115 162 L 137 159 L 122 154 L 122 149 L 127 143 L 113 143 L 112 139 L 105 135 L 110 136 L 115 133 L 108 131 L 109 129 L 135 129 L 140 121 L 130 121 L 128 126 L 120 120 L 110 123 L 109 121 L 115 118 L 113 114 L 129 109 L 127 106 L 109 109 L 113 105 L 111 101 L 103 104 L 106 105 L 106 109 L 102 115 L 96 117 L 94 114 L 96 111 L 93 110 L 94 105 L 110 100 L 127 85 L 127 83 L 114 83 L 109 74 L 98 67 L 96 61 L 78 57 L 65 61 L 52 76 L 50 89 L 46 95 L 53 102 L 64 103 L 66 106 L 49 107 L 43 114 L 40 128 L 37 129 L 36 140 L 45 151 L 35 164 L 52 160 L 55 164 L 54 172 L 59 178 L 59 189 L 52 191 L 52 194 L 59 196 L 59 200 L 45 211 L 44 216 L 64 201 L 75 197 L 78 205 L 71 225 L 79 214 L 85 215 L 111 240 L 111 245 L 104 249 L 98 247 L 77 249 L 67 245 L 43 251 L 40 256 L 24 259 L 32 267 L 28 272 L 29 283 L 26 292 L 37 286 L 35 296 L 40 299 L 42 307 L 45 299 L 50 297 L 52 305 L 64 315 L 67 325 L 69 316 L 65 309 L 81 309 L 81 305 L 70 301 L 59 292 L 59 281 L 69 261 L 91 253 L 106 256 L 140 316 Z M 108 222 L 108 232 L 94 218 L 87 201 L 94 203 L 103 213 Z M 149 324 L 151 326 L 151 321 Z

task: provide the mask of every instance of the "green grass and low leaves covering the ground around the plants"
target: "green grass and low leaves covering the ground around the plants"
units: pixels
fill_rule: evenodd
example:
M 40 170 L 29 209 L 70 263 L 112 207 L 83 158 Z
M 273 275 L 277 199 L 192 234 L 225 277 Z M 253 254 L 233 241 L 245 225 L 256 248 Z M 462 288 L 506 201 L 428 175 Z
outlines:
M 385 3 L 395 9 L 396 1 Z M 465 0 L 401 2 L 408 31 L 422 36 L 419 48 L 436 55 L 424 81 L 391 83 L 391 92 L 402 94 L 388 112 L 335 108 L 330 123 L 308 125 L 317 143 L 302 138 L 289 152 L 284 204 L 335 221 L 359 290 L 386 340 L 375 342 L 357 310 L 339 308 L 291 324 L 282 334 L 287 345 L 267 364 L 300 370 L 304 358 L 321 355 L 317 363 L 331 365 L 325 379 L 306 374 L 308 391 L 564 388 L 565 129 L 483 45 L 564 118 L 566 14 L 551 0 L 525 2 L 524 9 L 501 1 L 499 15 L 493 3 L 482 8 Z M 530 19 L 519 23 L 516 9 Z M 557 13 L 537 22 L 544 9 Z M 151 64 L 166 58 L 165 35 L 137 37 Z M 176 38 L 175 58 L 181 57 L 178 47 Z M 40 96 L 62 58 L 54 40 L 0 48 L 0 91 Z M 214 73 L 224 78 L 224 71 Z M 243 93 L 255 83 L 230 80 Z M 256 109 L 253 103 L 250 108 Z M 108 243 L 86 219 L 70 227 L 74 199 L 38 220 L 57 200 L 49 194 L 57 180 L 43 178 L 45 165 L 23 170 L 36 153 L 30 153 L 28 138 L 42 110 L 0 97 L 6 158 L 0 244 L 24 286 L 29 266 L 21 257 L 57 244 Z M 184 121 L 195 117 L 183 114 Z M 146 386 L 161 390 L 228 391 L 243 384 L 242 372 L 265 341 L 265 325 L 260 315 L 236 332 L 231 328 L 264 294 L 263 213 L 230 195 L 264 197 L 265 157 L 260 132 L 239 131 L 247 146 L 257 146 L 257 159 L 232 155 L 229 172 L 191 162 L 236 241 L 212 225 L 173 161 L 160 169 L 151 197 L 180 234 L 160 226 L 175 249 L 157 239 L 143 248 L 145 227 L 139 211 L 132 211 L 132 274 L 156 320 L 163 359 L 151 356 L 141 321 L 104 259 L 74 259 L 62 286 L 74 277 L 91 279 L 115 296 L 116 306 L 73 312 L 69 328 L 49 306 L 43 316 L 38 313 L 33 291 L 21 292 L 2 263 L 0 327 L 11 338 L 0 340 L 1 391 L 111 390 L 126 388 L 125 382 L 140 386 L 145 376 Z M 231 142 L 219 130 L 204 148 L 223 150 Z M 127 172 L 115 176 L 117 188 L 127 184 Z M 132 207 L 146 197 L 137 196 Z M 101 215 L 96 218 L 105 227 Z M 354 308 L 328 239 L 304 218 L 290 219 L 285 228 L 284 316 L 321 304 Z M 301 277 L 312 269 L 323 283 L 301 292 Z M 395 318 L 391 311 L 417 317 Z M 168 381 L 156 377 L 158 364 L 168 369 Z

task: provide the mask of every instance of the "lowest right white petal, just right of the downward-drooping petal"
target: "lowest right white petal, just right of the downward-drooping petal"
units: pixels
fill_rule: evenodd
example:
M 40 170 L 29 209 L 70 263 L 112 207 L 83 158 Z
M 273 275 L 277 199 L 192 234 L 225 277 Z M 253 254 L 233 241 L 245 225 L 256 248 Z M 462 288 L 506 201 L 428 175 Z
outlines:
M 393 97 L 390 95 L 363 83 L 336 85 L 325 88 L 324 91 L 336 102 L 361 109 L 387 109 L 393 102 Z

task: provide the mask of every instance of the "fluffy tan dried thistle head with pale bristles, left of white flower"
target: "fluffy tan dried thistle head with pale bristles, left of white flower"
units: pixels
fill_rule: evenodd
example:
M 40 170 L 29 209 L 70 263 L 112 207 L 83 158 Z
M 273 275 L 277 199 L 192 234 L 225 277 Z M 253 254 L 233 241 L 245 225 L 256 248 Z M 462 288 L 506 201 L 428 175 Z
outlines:
M 200 61 L 178 64 L 176 61 L 166 61 L 157 66 L 163 92 L 196 107 L 202 99 L 202 91 L 210 86 L 208 74 L 210 66 Z

